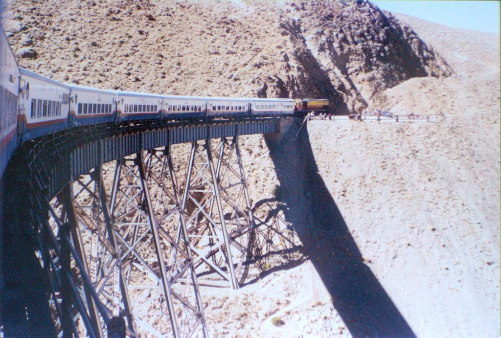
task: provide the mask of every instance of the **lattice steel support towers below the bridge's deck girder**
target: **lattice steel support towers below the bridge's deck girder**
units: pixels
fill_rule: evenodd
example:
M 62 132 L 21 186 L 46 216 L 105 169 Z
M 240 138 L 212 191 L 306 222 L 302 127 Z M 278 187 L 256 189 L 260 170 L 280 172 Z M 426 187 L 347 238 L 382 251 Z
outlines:
M 185 172 L 166 146 L 34 196 L 57 331 L 208 336 L 198 283 L 238 288 L 252 250 L 237 140 L 192 142 Z

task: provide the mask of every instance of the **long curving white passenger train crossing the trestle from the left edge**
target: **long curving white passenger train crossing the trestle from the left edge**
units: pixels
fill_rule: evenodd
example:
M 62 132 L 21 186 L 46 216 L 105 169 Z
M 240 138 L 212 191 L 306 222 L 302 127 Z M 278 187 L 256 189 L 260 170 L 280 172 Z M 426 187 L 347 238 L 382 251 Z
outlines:
M 294 99 L 161 95 L 61 83 L 18 67 L 0 30 L 0 176 L 19 145 L 72 126 L 145 119 L 293 116 L 308 110 L 314 102 L 302 99 L 308 103 L 299 105 Z

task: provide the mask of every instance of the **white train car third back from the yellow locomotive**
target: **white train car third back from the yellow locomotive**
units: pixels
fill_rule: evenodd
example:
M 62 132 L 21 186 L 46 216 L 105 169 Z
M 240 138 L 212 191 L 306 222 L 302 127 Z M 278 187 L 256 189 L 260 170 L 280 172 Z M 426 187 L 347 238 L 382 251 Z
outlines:
M 188 96 L 164 96 L 167 118 L 200 118 L 205 115 L 207 98 Z

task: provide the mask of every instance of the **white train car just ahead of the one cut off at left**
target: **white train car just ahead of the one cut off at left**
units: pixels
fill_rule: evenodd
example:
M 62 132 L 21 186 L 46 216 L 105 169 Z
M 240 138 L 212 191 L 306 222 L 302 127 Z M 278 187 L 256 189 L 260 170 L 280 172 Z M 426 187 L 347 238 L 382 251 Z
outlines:
M 24 68 L 20 72 L 23 141 L 68 127 L 70 87 Z

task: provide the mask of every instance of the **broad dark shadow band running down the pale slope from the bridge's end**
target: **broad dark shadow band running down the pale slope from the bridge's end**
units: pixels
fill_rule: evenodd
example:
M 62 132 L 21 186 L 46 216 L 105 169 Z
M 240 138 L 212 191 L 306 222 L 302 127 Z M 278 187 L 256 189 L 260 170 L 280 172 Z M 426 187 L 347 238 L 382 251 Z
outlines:
M 266 143 L 281 184 L 288 222 L 353 336 L 415 336 L 363 257 L 318 173 L 307 128 L 293 125 Z M 328 145 L 326 145 L 328 146 Z M 283 268 L 283 267 L 282 267 Z

